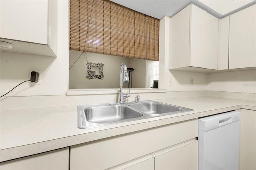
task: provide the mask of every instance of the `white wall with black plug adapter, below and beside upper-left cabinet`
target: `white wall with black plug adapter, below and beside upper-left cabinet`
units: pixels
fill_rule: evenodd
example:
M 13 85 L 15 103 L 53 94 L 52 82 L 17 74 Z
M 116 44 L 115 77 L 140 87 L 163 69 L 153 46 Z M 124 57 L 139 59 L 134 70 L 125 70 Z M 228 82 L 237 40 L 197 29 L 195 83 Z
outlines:
M 0 94 L 30 79 L 30 70 L 42 70 L 41 85 L 25 82 L 6 96 L 65 95 L 68 89 L 69 2 L 58 1 L 58 56 L 0 52 Z

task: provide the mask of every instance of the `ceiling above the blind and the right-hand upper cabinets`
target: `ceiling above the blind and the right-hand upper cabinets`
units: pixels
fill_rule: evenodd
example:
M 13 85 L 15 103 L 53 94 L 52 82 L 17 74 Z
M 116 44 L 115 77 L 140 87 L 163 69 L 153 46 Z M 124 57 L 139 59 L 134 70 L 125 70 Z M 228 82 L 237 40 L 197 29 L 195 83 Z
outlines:
M 174 14 L 194 4 L 216 18 L 224 18 L 239 10 L 242 10 L 256 0 L 111 0 L 122 6 L 142 14 L 161 19 L 164 16 L 172 17 Z

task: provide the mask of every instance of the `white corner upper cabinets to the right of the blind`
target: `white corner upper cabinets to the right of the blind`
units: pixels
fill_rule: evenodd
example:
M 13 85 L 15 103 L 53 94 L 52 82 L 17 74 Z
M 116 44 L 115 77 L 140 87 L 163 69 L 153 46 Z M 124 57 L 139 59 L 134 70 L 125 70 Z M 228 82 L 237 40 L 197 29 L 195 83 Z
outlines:
M 169 69 L 208 73 L 256 67 L 256 4 L 222 19 L 190 4 L 170 18 L 169 40 Z

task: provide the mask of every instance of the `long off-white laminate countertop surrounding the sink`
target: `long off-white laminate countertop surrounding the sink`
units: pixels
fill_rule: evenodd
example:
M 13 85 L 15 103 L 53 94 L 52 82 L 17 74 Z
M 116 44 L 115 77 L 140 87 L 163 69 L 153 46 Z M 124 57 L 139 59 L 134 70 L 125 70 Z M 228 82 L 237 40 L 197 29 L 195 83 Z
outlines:
M 256 110 L 256 101 L 219 97 L 188 97 L 156 101 L 194 111 L 90 129 L 77 127 L 77 106 L 1 111 L 0 162 L 235 109 Z

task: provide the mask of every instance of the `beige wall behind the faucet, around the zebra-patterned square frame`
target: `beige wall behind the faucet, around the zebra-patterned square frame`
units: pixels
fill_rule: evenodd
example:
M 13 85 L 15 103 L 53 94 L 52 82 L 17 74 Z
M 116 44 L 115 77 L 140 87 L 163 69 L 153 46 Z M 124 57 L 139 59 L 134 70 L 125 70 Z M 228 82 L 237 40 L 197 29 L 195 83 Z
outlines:
M 70 65 L 81 55 L 82 51 L 70 50 Z M 96 53 L 87 53 L 88 61 L 92 63 L 103 63 L 104 79 L 87 79 L 87 61 L 84 54 L 78 59 L 74 67 L 69 71 L 69 89 L 100 89 L 119 88 L 120 67 L 126 63 L 129 67 L 130 59 L 126 57 L 116 57 Z

